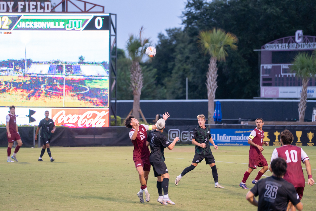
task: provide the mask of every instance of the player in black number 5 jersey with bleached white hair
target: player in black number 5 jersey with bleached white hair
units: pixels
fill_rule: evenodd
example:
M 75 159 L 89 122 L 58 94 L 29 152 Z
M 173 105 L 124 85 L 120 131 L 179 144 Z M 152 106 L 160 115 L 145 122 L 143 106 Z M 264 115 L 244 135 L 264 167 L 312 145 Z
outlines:
M 157 202 L 161 204 L 175 204 L 169 199 L 168 187 L 169 187 L 169 174 L 165 164 L 165 157 L 163 151 L 166 147 L 172 150 L 176 142 L 179 140 L 176 137 L 172 143 L 170 143 L 167 137 L 162 133 L 165 128 L 166 122 L 164 119 L 159 119 L 156 123 L 158 129 L 150 131 L 147 137 L 146 146 L 150 145 L 150 164 L 153 166 L 154 175 L 157 177 L 157 189 L 159 197 Z M 162 195 L 163 189 L 163 195 Z

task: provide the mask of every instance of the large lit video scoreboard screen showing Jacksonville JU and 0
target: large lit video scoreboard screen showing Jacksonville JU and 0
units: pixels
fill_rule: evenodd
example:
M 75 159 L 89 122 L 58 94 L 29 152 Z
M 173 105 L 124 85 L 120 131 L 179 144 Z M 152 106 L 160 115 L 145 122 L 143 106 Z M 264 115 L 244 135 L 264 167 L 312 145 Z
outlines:
M 108 108 L 109 36 L 109 14 L 0 13 L 0 107 Z

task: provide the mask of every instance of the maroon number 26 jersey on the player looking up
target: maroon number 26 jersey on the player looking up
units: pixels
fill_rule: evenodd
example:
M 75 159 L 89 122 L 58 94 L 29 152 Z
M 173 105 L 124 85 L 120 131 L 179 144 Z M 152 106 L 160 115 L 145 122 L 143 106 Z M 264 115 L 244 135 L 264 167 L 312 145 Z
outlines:
M 149 158 L 149 149 L 148 146 L 146 146 L 146 140 L 147 140 L 147 130 L 149 129 L 148 125 L 140 125 L 137 131 L 137 137 L 135 140 L 131 140 L 134 145 L 134 151 L 133 151 L 133 159 L 142 159 L 142 158 Z M 132 137 L 134 133 L 134 129 L 131 129 L 129 135 L 130 138 Z

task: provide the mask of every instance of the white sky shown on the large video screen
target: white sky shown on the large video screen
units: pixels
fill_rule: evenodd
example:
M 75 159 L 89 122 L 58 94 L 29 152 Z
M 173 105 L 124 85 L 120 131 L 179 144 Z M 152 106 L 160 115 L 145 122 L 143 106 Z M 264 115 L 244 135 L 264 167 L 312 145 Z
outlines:
M 77 62 L 79 56 L 85 61 L 102 62 L 109 59 L 109 31 L 19 31 L 10 36 L 0 34 L 0 58 L 24 59 L 25 48 L 27 59 L 33 61 Z M 94 36 L 94 39 L 91 37 Z

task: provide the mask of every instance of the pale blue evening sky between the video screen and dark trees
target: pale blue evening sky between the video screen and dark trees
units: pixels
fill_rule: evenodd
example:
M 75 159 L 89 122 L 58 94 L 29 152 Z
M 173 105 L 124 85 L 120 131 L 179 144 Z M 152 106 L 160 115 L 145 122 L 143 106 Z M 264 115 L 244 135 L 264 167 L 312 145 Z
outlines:
M 126 49 L 129 34 L 139 34 L 144 26 L 144 36 L 157 44 L 158 33 L 165 29 L 181 27 L 182 11 L 186 0 L 85 0 L 105 7 L 105 13 L 117 14 L 117 45 Z M 60 0 L 52 0 L 59 3 Z M 74 3 L 76 0 L 73 1 Z M 79 3 L 78 3 L 79 5 Z M 70 8 L 70 4 L 69 4 Z

